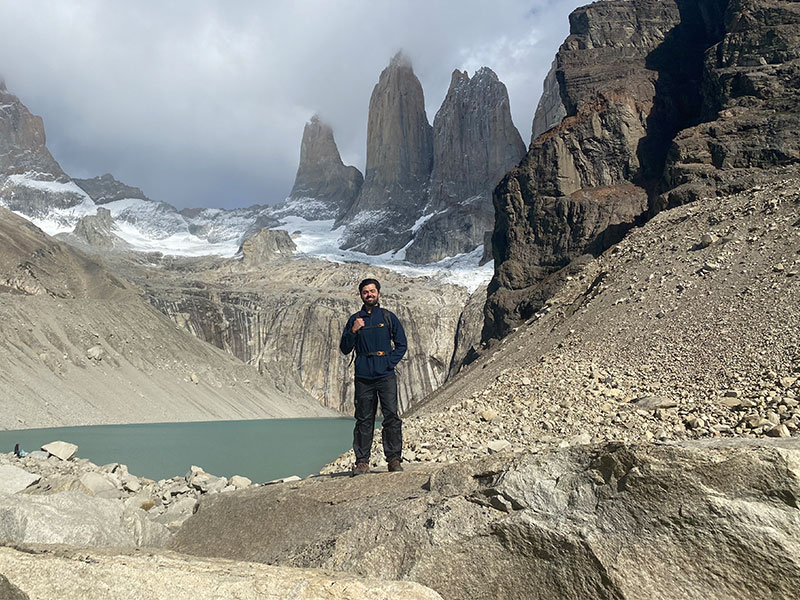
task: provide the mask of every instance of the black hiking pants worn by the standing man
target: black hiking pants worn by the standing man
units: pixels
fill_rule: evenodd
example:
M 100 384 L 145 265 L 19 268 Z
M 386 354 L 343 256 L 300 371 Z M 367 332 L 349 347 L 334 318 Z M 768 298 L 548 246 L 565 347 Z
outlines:
M 397 416 L 397 377 L 392 374 L 380 379 L 356 377 L 356 426 L 353 429 L 353 452 L 356 454 L 356 463 L 369 463 L 378 401 L 381 403 L 383 413 L 381 441 L 386 462 L 401 460 L 403 422 Z

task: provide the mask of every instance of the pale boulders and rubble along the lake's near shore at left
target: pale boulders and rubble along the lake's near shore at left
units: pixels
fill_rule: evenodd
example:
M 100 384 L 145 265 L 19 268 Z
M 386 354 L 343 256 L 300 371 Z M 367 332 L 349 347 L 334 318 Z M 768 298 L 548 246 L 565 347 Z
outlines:
M 74 444 L 57 441 L 25 456 L 0 454 L 2 542 L 160 547 L 203 496 L 258 485 L 198 466 L 154 481 L 129 473 L 124 464 L 96 465 L 77 451 Z M 47 518 L 53 511 L 60 515 L 57 521 Z

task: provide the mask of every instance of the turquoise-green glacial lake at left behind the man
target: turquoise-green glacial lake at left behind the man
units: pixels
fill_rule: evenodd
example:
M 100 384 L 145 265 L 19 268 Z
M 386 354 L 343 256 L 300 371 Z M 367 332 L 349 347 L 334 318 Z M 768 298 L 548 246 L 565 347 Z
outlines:
M 77 444 L 79 458 L 122 463 L 139 477 L 168 479 L 197 465 L 264 482 L 317 473 L 352 447 L 353 424 L 328 418 L 22 429 L 0 431 L 0 452 L 12 452 L 14 444 L 30 452 L 62 440 Z

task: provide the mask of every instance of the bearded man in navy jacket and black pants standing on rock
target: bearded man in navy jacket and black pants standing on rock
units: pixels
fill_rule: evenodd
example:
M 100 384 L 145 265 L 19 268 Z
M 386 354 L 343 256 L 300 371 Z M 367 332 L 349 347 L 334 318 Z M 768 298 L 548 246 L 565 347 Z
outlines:
M 369 471 L 378 401 L 383 413 L 381 440 L 386 462 L 390 471 L 402 471 L 403 422 L 397 415 L 394 368 L 406 353 L 406 334 L 397 316 L 381 308 L 381 284 L 376 279 L 365 279 L 358 284 L 358 293 L 364 305 L 350 315 L 339 343 L 344 354 L 350 354 L 353 349 L 356 352 L 356 426 L 353 429 L 356 464 L 352 474 Z

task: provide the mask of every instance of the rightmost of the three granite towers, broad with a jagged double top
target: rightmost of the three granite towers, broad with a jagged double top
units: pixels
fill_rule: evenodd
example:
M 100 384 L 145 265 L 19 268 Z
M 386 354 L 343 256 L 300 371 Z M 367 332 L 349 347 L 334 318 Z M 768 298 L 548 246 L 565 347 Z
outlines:
M 411 262 L 428 263 L 470 252 L 494 225 L 491 194 L 525 155 L 511 120 L 508 92 L 491 69 L 470 79 L 454 71 L 433 120 L 430 215 L 406 249 Z

